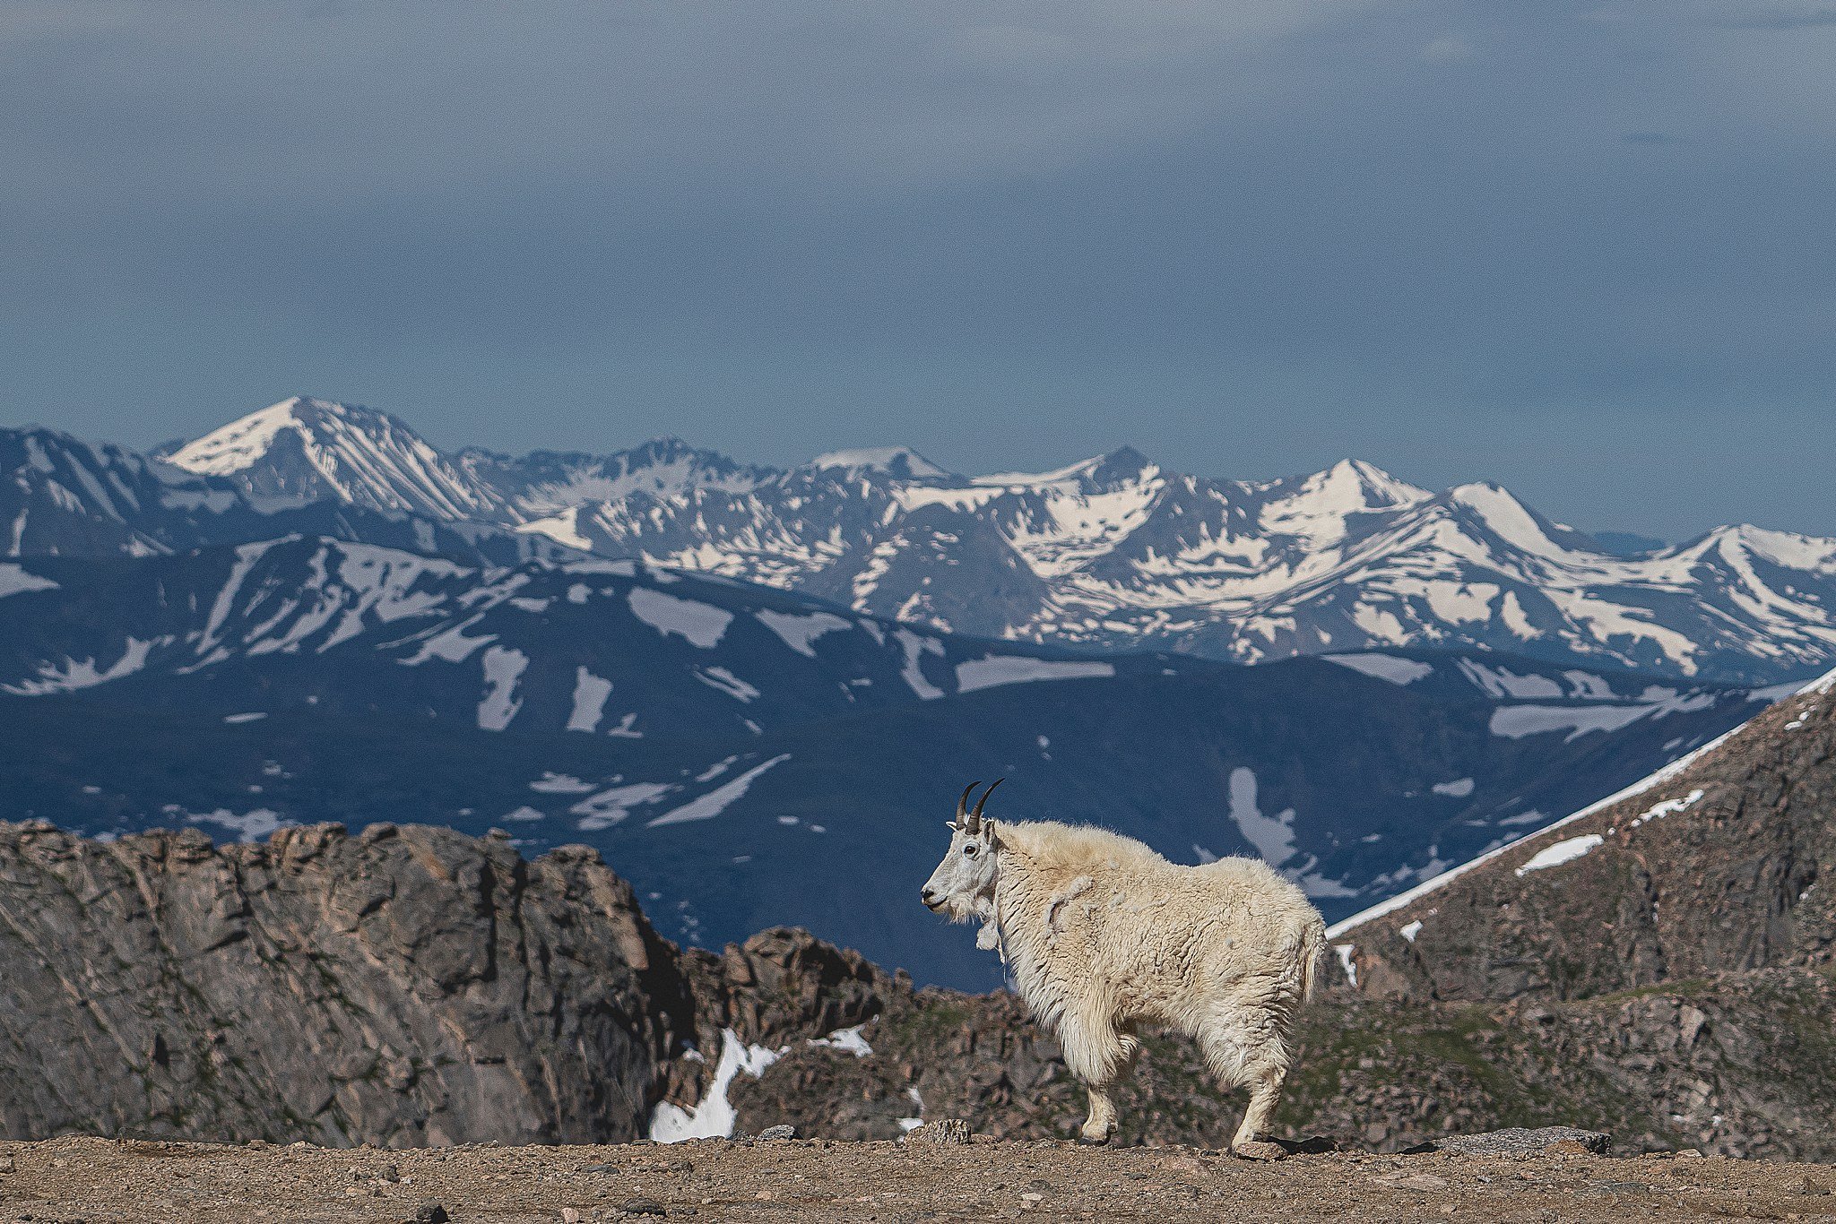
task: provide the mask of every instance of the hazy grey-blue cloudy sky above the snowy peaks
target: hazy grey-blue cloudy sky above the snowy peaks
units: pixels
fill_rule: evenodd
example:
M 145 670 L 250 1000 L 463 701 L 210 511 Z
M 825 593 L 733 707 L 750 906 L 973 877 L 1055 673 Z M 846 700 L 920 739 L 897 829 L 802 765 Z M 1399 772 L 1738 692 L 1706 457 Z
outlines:
M 1836 534 L 1836 0 L 7 0 L 0 420 Z

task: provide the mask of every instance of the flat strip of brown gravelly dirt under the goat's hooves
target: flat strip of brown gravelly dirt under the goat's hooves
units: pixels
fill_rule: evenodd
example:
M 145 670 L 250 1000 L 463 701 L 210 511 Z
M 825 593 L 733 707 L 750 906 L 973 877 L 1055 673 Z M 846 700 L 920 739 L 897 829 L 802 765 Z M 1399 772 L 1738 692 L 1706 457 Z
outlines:
M 1072 1143 L 0 1143 L 0 1220 L 1832 1220 L 1836 1169 L 1718 1156 L 1291 1156 Z

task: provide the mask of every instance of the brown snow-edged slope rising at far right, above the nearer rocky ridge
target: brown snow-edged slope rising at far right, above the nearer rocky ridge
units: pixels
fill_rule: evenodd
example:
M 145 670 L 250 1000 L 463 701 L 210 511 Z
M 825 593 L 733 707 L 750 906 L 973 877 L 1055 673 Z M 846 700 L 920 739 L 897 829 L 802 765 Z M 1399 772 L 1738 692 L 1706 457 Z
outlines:
M 1335 934 L 1355 947 L 1360 984 L 1405 996 L 1575 998 L 1770 965 L 1827 973 L 1832 679 L 1638 793 L 1348 921 Z

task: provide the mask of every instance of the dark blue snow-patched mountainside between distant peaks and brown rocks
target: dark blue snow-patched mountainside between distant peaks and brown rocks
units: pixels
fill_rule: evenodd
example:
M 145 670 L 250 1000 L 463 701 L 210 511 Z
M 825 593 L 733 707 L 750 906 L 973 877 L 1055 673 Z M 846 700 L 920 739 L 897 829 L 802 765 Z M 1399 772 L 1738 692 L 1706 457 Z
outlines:
M 885 881 L 929 872 L 969 778 L 1179 861 L 1259 853 L 1344 914 L 1766 697 L 1496 657 L 1092 659 L 630 562 L 292 540 L 6 565 L 4 815 L 586 840 L 676 938 L 800 923 L 960 985 L 993 969 Z

